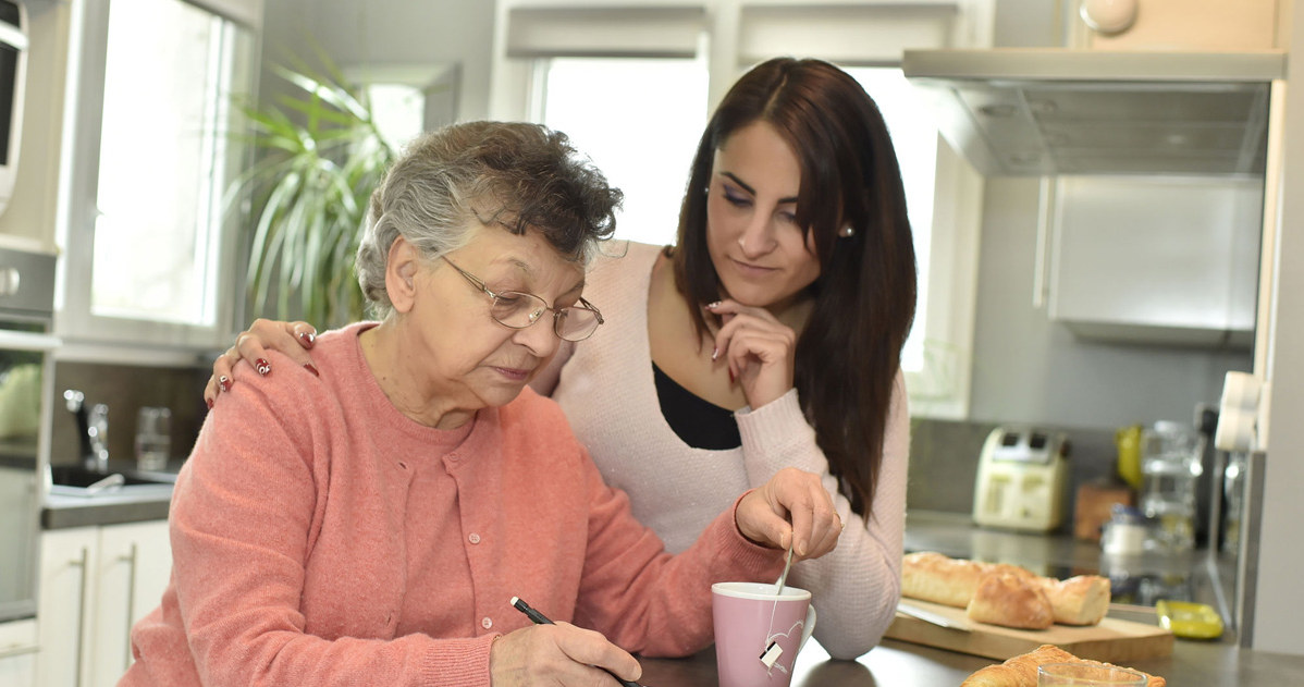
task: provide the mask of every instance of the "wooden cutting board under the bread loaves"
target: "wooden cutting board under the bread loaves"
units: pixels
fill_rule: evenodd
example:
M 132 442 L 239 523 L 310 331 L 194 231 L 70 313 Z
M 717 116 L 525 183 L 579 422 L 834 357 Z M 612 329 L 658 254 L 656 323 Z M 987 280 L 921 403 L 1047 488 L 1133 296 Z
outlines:
M 901 601 L 944 615 L 947 619 L 964 622 L 970 631 L 939 627 L 897 613 L 885 636 L 986 658 L 1004 661 L 1012 656 L 1028 653 L 1042 644 L 1055 644 L 1078 658 L 1121 665 L 1172 654 L 1172 632 L 1158 624 L 1104 618 L 1101 624 L 1088 627 L 1055 624 L 1047 630 L 1013 630 L 970 621 L 965 617 L 964 609 L 953 609 L 917 598 L 902 598 Z

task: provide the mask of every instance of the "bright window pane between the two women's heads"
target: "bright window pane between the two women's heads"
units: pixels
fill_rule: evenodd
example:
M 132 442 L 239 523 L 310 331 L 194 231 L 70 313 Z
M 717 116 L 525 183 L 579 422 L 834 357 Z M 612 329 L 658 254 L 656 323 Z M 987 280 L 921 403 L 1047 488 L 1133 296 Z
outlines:
M 707 123 L 702 60 L 558 57 L 542 65 L 539 121 L 566 132 L 625 192 L 615 236 L 673 244 Z

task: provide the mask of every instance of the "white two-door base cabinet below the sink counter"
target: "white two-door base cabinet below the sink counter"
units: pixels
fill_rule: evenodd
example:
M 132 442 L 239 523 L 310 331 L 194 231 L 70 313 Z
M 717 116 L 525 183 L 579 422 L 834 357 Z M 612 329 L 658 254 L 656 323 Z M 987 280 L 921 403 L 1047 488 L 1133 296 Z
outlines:
M 158 606 L 171 570 L 166 520 L 43 532 L 38 684 L 116 684 L 130 627 Z

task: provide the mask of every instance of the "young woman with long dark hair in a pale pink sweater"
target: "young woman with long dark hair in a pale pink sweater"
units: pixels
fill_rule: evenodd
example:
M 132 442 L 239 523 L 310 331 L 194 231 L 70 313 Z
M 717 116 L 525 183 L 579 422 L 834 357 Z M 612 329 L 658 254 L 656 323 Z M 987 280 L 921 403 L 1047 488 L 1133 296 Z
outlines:
M 563 344 L 532 385 L 561 404 L 608 484 L 678 551 L 741 489 L 785 467 L 822 475 L 846 532 L 789 583 L 812 592 L 831 656 L 878 644 L 900 597 L 900 356 L 917 287 L 874 100 L 819 60 L 755 66 L 702 137 L 677 244 L 629 244 L 599 261 L 588 288 L 602 295 L 602 332 Z M 218 358 L 205 396 L 230 388 L 240 357 L 270 372 L 265 345 L 310 365 L 310 332 L 256 322 Z

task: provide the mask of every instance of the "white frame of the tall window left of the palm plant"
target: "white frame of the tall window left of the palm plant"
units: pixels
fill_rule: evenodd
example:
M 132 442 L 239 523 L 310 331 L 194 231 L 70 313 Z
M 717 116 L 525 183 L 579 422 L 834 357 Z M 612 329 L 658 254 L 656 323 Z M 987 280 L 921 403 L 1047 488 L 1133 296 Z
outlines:
M 239 222 L 223 216 L 216 256 L 216 314 L 211 326 L 180 325 L 95 315 L 91 313 L 91 270 L 99 184 L 100 117 L 104 107 L 104 55 L 108 50 L 108 13 L 113 1 L 72 0 L 69 20 L 68 82 L 65 89 L 64 159 L 56 235 L 64 254 L 59 265 L 56 330 L 65 345 L 60 360 L 150 365 L 193 364 L 201 351 L 218 348 L 231 336 L 241 293 L 236 275 Z M 254 53 L 240 63 L 240 78 L 256 85 L 257 33 L 262 0 L 183 0 L 216 13 L 253 31 Z M 239 146 L 228 150 L 228 175 L 248 160 Z M 226 185 L 219 188 L 224 192 Z

